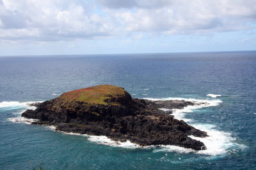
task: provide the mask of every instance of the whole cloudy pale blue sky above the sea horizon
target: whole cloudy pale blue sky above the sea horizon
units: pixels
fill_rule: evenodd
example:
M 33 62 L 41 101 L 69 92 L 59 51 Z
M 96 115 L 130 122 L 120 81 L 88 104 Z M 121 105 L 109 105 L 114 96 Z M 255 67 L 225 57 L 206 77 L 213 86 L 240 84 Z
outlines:
M 0 0 L 0 56 L 256 50 L 256 0 Z

